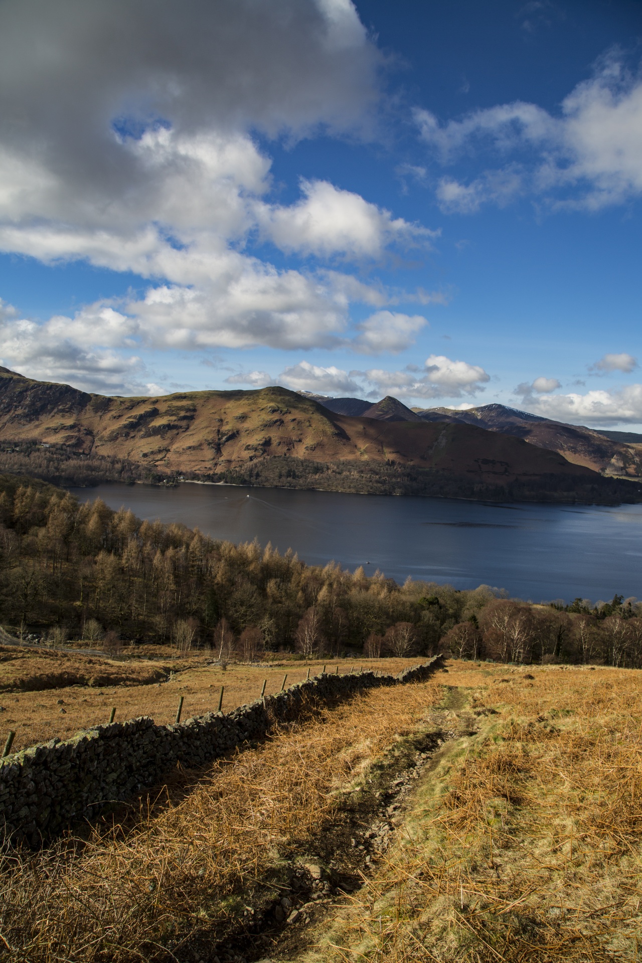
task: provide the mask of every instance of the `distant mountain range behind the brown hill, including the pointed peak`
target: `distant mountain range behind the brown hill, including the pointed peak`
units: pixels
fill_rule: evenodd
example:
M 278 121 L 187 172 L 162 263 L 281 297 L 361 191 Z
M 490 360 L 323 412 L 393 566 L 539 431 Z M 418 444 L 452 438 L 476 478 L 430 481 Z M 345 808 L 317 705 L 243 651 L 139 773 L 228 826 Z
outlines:
M 381 421 L 446 422 L 476 425 L 488 431 L 524 438 L 531 445 L 563 455 L 602 475 L 642 478 L 642 435 L 630 431 L 597 431 L 566 425 L 505 404 L 482 404 L 460 411 L 456 408 L 408 408 L 396 398 L 372 404 L 356 398 L 324 398 L 308 395 L 337 414 L 359 414 Z M 349 410 L 348 410 L 349 408 Z

